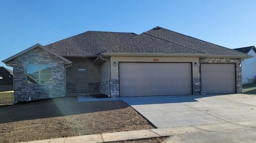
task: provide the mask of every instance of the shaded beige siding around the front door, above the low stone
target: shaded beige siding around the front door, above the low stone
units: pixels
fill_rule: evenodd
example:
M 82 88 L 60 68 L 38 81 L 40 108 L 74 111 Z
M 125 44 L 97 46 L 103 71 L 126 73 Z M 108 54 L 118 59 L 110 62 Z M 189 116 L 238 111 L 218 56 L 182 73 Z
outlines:
M 89 58 L 67 58 L 72 61 L 72 66 L 66 68 L 66 82 L 76 83 L 77 69 L 87 68 L 88 70 L 88 83 L 100 82 L 100 66 L 94 65 L 95 59 Z M 71 71 L 70 71 L 71 68 Z

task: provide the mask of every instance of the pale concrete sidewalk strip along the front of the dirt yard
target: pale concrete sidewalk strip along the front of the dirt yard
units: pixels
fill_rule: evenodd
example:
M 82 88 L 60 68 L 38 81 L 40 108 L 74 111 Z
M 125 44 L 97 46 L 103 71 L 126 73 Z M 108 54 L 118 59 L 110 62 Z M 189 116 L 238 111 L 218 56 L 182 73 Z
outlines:
M 147 139 L 152 137 L 166 137 L 170 135 L 182 135 L 188 133 L 202 133 L 204 130 L 192 126 L 168 127 L 158 129 L 145 129 L 137 131 L 121 131 L 115 133 L 101 133 L 96 135 L 82 135 L 77 137 L 64 137 L 46 139 L 40 141 L 26 141 L 21 143 L 104 143 L 110 141 L 124 141 L 135 139 Z

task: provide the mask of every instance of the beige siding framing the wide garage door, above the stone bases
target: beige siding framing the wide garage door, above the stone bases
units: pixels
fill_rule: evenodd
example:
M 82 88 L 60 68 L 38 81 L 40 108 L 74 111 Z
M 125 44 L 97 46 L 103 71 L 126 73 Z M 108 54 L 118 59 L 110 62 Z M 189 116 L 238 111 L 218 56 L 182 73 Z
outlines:
M 158 59 L 158 61 L 154 61 Z M 116 62 L 116 66 L 112 63 Z M 119 78 L 118 62 L 189 62 L 192 64 L 192 75 L 194 78 L 199 77 L 198 66 L 194 63 L 198 63 L 198 57 L 111 57 L 111 78 Z

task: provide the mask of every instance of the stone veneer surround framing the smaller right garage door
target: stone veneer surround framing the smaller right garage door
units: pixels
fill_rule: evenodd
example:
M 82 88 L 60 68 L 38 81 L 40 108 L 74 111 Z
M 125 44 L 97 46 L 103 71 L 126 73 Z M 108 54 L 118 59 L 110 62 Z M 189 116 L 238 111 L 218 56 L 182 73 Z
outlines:
M 236 64 L 236 93 L 242 93 L 242 67 L 238 66 L 242 59 L 238 58 L 199 58 L 199 69 L 201 69 L 201 63 L 235 63 Z M 199 76 L 201 70 L 199 70 Z M 201 77 L 201 76 L 200 76 Z

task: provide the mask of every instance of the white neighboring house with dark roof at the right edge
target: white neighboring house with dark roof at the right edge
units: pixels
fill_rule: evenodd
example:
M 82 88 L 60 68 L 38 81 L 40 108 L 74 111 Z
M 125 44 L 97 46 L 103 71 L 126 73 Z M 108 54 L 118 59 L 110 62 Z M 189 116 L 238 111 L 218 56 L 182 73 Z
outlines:
M 242 82 L 243 84 L 256 82 L 256 48 L 250 46 L 234 50 L 254 56 L 253 58 L 244 59 L 244 61 L 242 61 Z

